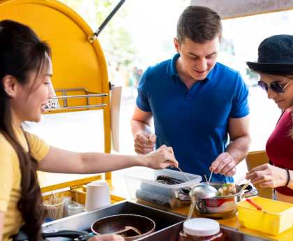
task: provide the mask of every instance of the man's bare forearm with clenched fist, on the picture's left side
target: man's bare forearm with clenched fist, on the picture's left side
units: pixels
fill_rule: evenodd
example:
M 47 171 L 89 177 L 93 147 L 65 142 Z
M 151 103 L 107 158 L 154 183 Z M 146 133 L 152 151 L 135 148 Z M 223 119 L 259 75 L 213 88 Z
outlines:
M 140 110 L 135 104 L 135 110 L 131 119 L 131 131 L 135 138 L 135 152 L 137 154 L 149 154 L 155 148 L 156 135 L 151 133 L 152 112 Z

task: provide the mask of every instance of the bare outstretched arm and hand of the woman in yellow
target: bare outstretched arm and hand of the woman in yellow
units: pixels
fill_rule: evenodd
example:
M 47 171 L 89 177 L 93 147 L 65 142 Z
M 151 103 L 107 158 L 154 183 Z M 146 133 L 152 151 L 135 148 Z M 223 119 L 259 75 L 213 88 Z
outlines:
M 166 162 L 167 161 L 167 162 Z M 145 156 L 124 156 L 105 153 L 77 153 L 50 147 L 47 156 L 40 161 L 40 170 L 47 173 L 107 173 L 132 166 L 163 169 L 178 166 L 172 147 L 163 145 Z

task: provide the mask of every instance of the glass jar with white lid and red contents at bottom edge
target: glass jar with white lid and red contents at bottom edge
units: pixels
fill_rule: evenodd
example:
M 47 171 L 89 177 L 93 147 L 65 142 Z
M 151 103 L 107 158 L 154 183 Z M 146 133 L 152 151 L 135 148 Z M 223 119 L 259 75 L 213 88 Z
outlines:
M 179 241 L 225 241 L 225 238 L 217 221 L 195 218 L 184 222 Z

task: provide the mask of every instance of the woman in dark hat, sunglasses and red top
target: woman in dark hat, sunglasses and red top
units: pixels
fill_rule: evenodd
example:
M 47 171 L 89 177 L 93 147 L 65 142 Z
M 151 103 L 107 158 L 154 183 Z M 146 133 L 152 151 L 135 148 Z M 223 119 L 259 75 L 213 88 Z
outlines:
M 266 143 L 271 164 L 253 168 L 246 179 L 260 187 L 272 187 L 273 199 L 293 203 L 293 36 L 266 38 L 258 48 L 257 62 L 247 62 L 260 75 L 258 85 L 282 110 Z

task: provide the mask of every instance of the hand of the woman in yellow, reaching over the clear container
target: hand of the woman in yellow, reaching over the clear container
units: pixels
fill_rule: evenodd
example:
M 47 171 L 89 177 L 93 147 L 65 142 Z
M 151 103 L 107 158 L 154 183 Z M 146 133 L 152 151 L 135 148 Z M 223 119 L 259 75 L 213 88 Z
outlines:
M 148 168 L 164 169 L 168 166 L 171 166 L 172 168 L 174 166 L 176 168 L 178 167 L 178 161 L 175 159 L 172 147 L 167 147 L 165 145 L 156 149 L 155 152 L 151 152 L 141 157 L 144 158 L 144 166 L 147 166 Z

